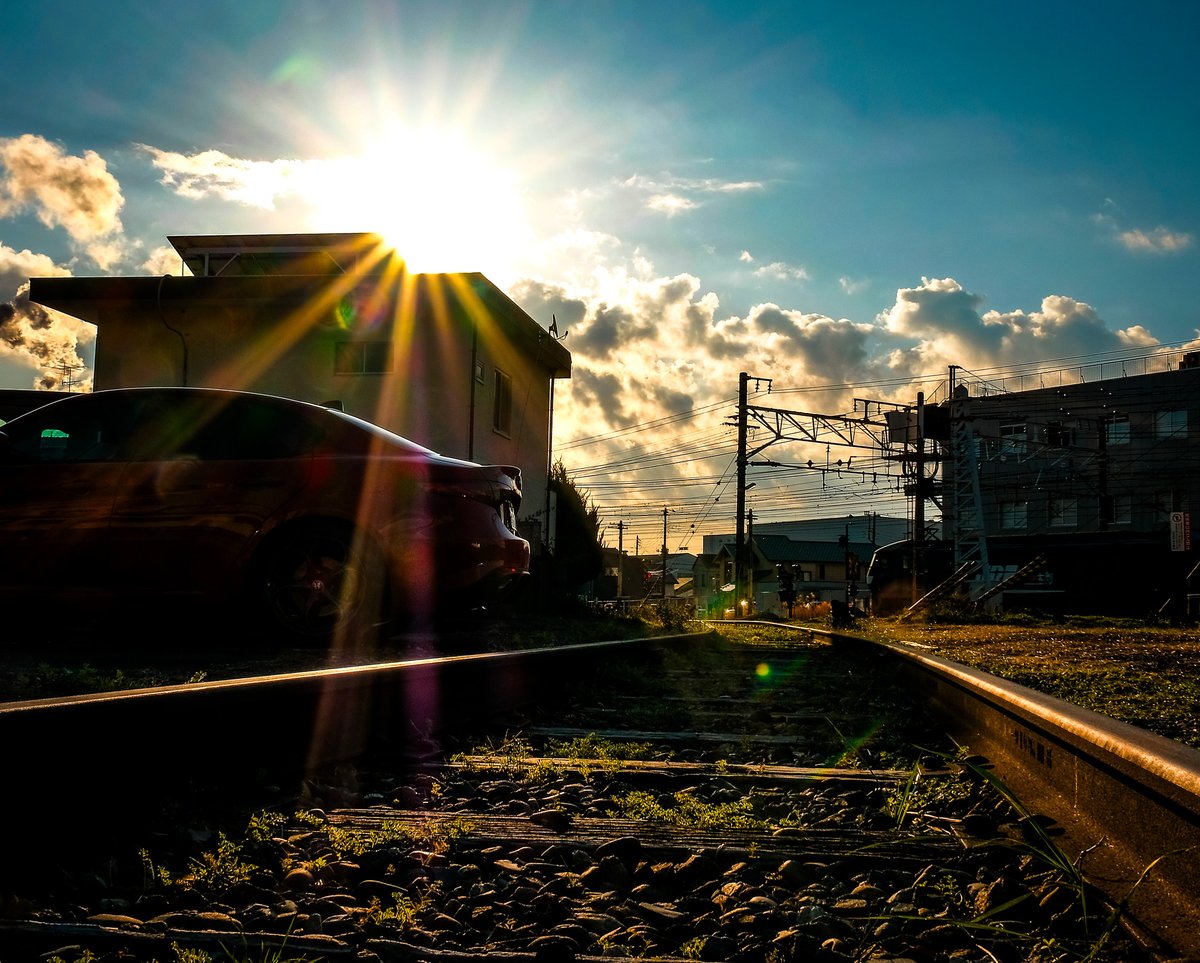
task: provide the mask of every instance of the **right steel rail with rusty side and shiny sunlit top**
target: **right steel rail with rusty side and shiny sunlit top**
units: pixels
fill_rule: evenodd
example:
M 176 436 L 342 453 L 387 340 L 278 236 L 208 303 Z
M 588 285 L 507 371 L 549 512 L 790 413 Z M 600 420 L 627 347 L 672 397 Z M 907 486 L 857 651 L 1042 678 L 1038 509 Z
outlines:
M 1200 957 L 1200 750 L 913 646 L 796 628 L 898 659 L 948 734 L 1054 820 L 1054 844 L 1127 926 Z

